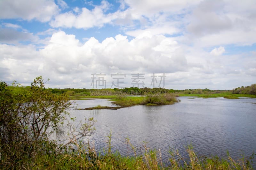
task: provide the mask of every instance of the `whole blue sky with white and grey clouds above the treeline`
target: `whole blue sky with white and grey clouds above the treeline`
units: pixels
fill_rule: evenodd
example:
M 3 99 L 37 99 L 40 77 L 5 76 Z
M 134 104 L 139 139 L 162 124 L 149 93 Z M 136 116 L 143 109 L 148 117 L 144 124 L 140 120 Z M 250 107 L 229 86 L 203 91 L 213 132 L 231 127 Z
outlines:
M 256 1 L 0 0 L 0 80 L 38 76 L 47 88 L 254 84 Z

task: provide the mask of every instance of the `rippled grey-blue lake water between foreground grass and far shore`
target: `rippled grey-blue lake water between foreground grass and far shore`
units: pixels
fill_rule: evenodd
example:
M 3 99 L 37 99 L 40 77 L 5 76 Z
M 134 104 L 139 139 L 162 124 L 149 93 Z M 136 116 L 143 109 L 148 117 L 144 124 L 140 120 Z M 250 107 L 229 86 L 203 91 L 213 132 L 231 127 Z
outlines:
M 72 110 L 77 120 L 94 117 L 96 130 L 89 138 L 95 147 L 107 147 L 112 131 L 112 151 L 131 154 L 125 137 L 141 147 L 143 141 L 150 148 L 161 150 L 168 161 L 169 149 L 186 155 L 185 146 L 192 144 L 200 156 L 218 155 L 232 158 L 256 152 L 256 99 L 180 97 L 181 102 L 165 106 L 133 106 L 118 110 Z M 77 100 L 78 107 L 113 106 L 108 100 Z

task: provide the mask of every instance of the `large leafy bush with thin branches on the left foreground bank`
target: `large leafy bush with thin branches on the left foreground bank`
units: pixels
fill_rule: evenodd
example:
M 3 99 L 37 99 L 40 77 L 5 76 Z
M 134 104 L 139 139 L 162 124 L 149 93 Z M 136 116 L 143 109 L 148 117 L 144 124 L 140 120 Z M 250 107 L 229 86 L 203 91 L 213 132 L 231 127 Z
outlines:
M 55 95 L 45 89 L 41 76 L 30 88 L 21 88 L 16 81 L 12 86 L 1 81 L 0 99 L 0 168 L 36 166 L 40 155 L 56 157 L 72 141 L 93 130 L 93 119 L 81 122 L 79 130 L 71 129 L 72 124 L 66 121 L 70 142 L 63 145 L 49 139 L 53 132 L 60 131 L 72 102 L 65 94 Z

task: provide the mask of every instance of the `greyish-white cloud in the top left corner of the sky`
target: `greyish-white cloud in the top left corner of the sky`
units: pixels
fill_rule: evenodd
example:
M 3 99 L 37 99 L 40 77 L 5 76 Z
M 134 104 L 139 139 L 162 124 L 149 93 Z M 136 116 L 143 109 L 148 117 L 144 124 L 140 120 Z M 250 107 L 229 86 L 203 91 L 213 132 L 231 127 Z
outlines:
M 53 0 L 0 1 L 0 19 L 22 18 L 47 22 L 58 10 Z

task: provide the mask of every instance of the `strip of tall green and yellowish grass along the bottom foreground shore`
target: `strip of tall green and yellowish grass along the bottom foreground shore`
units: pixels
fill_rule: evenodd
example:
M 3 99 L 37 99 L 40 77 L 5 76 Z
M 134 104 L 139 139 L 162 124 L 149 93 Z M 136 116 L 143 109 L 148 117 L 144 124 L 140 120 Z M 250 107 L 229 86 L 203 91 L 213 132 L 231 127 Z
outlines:
M 5 153 L 2 153 L 0 168 L 5 169 L 143 169 L 143 170 L 203 170 L 203 169 L 253 169 L 251 157 L 242 156 L 234 160 L 227 158 L 201 157 L 198 156 L 192 145 L 186 147 L 187 154 L 180 155 L 179 151 L 169 150 L 169 159 L 163 162 L 160 149 L 150 149 L 145 142 L 141 147 L 135 147 L 130 143 L 129 138 L 126 143 L 133 152 L 130 156 L 122 156 L 118 151 L 112 151 L 111 132 L 108 134 L 108 146 L 98 152 L 94 145 L 82 142 L 74 142 L 73 146 L 62 148 L 61 152 L 48 152 L 38 154 L 33 161 L 30 158 L 20 159 L 16 164 L 5 162 Z M 124 146 L 126 147 L 126 146 Z

